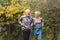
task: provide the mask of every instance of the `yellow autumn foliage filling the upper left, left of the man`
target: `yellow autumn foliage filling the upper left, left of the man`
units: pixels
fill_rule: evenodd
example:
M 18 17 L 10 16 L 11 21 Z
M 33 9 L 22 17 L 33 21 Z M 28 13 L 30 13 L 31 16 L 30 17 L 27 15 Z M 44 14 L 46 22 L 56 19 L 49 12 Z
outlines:
M 5 22 L 6 24 L 16 22 L 16 19 L 19 19 L 23 14 L 22 12 L 24 12 L 27 8 L 30 8 L 29 5 L 26 5 L 26 2 L 21 2 L 21 4 L 19 4 L 16 3 L 17 1 L 18 0 L 11 0 L 11 4 L 5 7 L 2 7 L 2 5 L 0 5 L 0 8 L 3 9 L 2 11 L 0 11 L 0 16 L 4 13 L 7 20 L 11 18 L 11 21 L 8 20 L 7 22 Z M 4 21 L 4 18 L 0 19 L 0 21 Z

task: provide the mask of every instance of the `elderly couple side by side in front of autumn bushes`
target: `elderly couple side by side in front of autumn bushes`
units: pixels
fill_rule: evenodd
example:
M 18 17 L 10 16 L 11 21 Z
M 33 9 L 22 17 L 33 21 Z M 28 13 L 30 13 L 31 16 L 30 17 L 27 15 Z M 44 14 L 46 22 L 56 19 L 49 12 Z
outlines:
M 18 20 L 21 24 L 24 40 L 29 40 L 30 31 L 32 26 L 34 27 L 35 40 L 42 40 L 42 27 L 44 26 L 44 20 L 40 17 L 40 12 L 35 11 L 35 18 L 30 16 L 30 10 L 25 10 L 25 15 L 21 16 Z

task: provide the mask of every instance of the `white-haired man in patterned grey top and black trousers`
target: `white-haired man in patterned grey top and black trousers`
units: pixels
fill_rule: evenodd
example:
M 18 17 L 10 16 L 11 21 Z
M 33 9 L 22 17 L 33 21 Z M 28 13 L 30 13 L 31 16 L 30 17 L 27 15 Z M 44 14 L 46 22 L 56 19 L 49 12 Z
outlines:
M 25 15 L 21 16 L 19 19 L 19 23 L 21 24 L 21 28 L 23 30 L 23 38 L 24 40 L 29 40 L 30 30 L 33 26 L 33 18 L 30 16 L 30 9 L 25 10 Z

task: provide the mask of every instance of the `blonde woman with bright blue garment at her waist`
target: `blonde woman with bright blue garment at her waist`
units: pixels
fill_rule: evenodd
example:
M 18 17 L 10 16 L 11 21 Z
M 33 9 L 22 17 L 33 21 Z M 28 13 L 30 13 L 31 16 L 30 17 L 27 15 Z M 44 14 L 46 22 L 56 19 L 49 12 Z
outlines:
M 42 27 L 44 26 L 44 20 L 40 17 L 40 12 L 35 11 L 34 18 L 34 32 L 35 32 L 35 40 L 42 40 Z

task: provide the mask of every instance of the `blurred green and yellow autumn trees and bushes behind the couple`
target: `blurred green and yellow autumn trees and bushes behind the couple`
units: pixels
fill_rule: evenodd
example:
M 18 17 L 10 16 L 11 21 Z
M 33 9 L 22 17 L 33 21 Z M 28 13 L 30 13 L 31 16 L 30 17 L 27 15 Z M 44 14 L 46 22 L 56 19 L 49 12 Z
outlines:
M 0 40 L 23 40 L 18 19 L 27 8 L 41 12 L 43 40 L 60 40 L 60 0 L 0 0 Z

